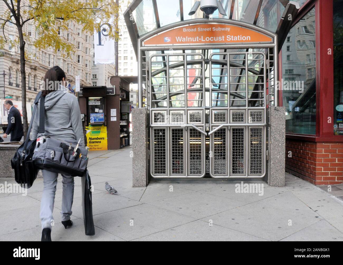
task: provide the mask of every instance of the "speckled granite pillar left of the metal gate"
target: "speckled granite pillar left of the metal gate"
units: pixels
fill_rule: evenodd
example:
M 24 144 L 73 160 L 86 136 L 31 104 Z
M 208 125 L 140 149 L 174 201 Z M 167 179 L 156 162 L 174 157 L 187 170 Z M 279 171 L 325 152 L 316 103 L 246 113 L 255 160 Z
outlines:
M 147 122 L 146 108 L 132 110 L 132 186 L 146 187 L 147 175 Z

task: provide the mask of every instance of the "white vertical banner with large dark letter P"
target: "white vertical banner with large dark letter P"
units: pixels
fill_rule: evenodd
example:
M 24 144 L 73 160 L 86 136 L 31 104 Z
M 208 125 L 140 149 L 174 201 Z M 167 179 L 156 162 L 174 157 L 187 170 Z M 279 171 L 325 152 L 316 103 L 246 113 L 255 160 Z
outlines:
M 114 18 L 109 23 L 102 23 L 98 31 L 94 32 L 94 63 L 114 64 L 116 61 L 115 39 L 108 35 L 115 30 Z

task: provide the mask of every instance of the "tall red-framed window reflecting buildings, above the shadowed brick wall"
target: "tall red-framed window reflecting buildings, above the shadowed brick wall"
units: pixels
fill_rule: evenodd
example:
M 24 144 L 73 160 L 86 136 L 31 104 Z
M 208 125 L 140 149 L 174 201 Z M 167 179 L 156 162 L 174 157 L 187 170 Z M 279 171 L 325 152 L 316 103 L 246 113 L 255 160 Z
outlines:
M 315 10 L 289 31 L 282 47 L 283 105 L 286 132 L 316 134 L 316 26 Z

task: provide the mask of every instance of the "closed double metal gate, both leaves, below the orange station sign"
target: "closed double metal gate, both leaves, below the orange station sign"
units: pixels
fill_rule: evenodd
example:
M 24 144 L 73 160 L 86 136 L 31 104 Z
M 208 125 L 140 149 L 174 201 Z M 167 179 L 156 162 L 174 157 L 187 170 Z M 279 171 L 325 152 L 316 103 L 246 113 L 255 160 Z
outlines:
M 264 177 L 263 52 L 160 53 L 148 62 L 153 177 L 204 177 L 206 158 L 214 178 Z

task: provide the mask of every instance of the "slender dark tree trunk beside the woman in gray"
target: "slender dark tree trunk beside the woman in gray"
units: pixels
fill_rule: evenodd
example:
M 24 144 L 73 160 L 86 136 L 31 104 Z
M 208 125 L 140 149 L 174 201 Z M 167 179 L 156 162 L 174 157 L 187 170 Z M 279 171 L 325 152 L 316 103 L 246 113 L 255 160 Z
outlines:
M 24 139 L 27 134 L 27 111 L 26 111 L 26 73 L 25 73 L 25 41 L 23 37 L 22 26 L 17 26 L 19 33 L 19 49 L 20 49 L 20 74 L 22 78 L 22 109 L 23 109 L 23 127 L 24 127 Z

